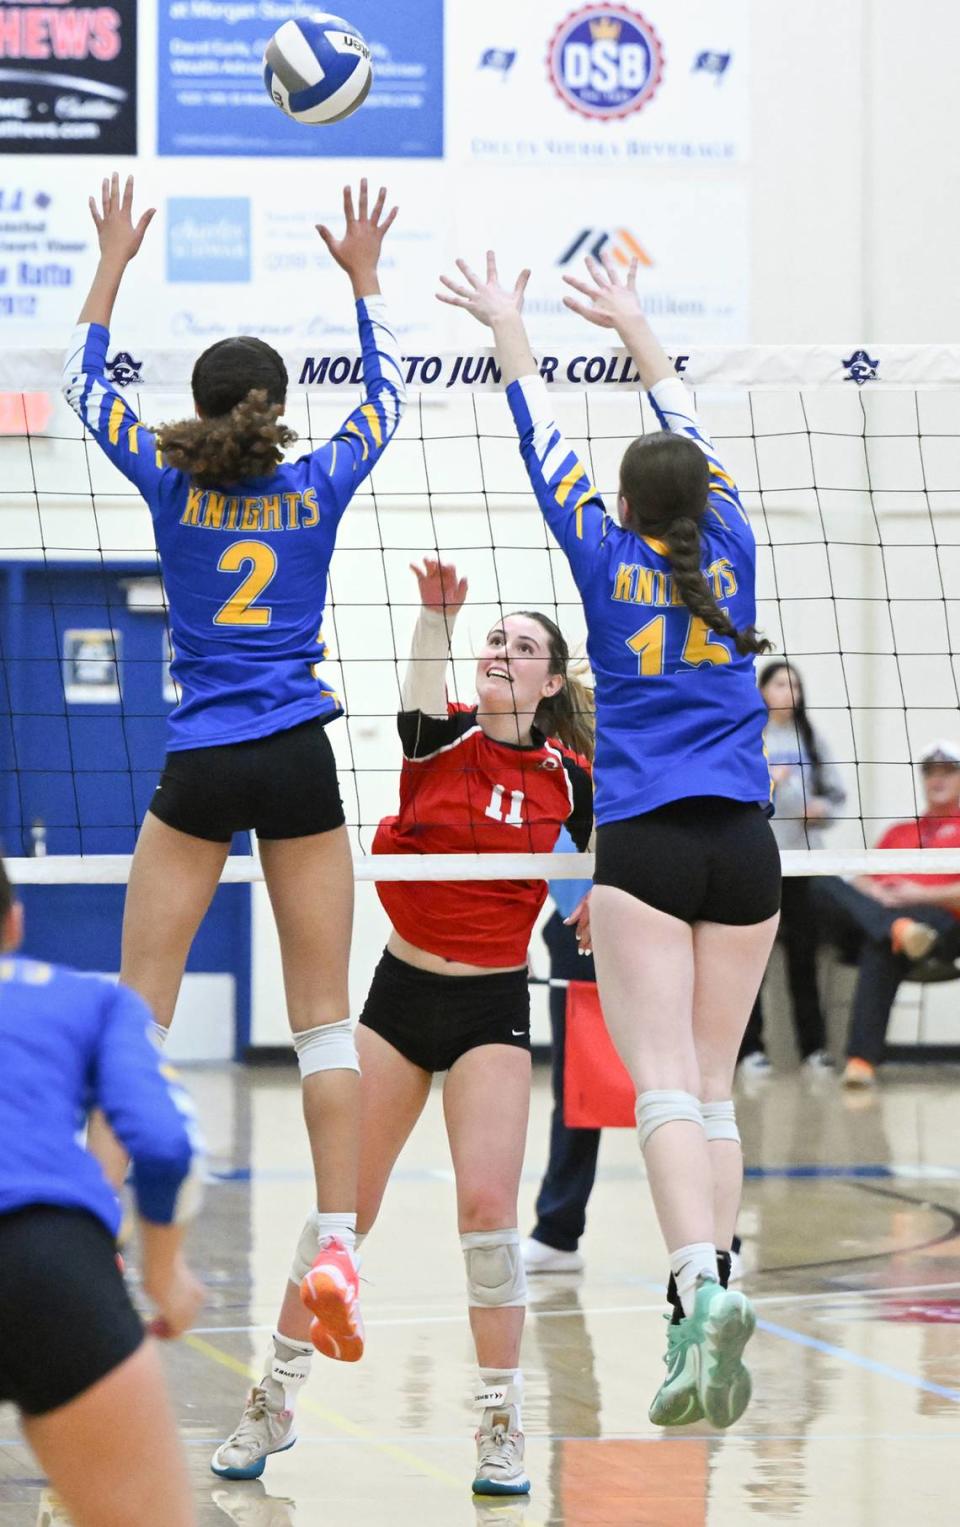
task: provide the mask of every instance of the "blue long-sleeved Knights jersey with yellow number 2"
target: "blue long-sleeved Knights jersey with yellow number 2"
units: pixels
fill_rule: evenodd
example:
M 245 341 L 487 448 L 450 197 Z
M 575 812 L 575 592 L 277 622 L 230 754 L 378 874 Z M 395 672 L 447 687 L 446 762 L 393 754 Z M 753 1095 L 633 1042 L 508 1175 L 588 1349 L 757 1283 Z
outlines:
M 104 374 L 108 331 L 82 324 L 72 336 L 64 395 L 153 516 L 182 692 L 171 750 L 246 742 L 342 712 L 317 672 L 327 573 L 340 516 L 404 400 L 383 299 L 362 298 L 357 321 L 363 403 L 310 455 L 220 489 L 163 464 L 156 437 Z

